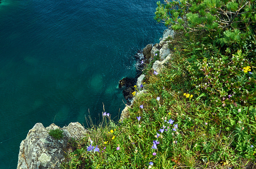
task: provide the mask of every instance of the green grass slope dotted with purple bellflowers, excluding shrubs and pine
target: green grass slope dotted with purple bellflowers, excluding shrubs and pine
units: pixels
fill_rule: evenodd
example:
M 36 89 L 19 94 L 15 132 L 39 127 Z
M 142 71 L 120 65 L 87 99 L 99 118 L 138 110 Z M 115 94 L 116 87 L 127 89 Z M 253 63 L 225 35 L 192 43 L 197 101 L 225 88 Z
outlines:
M 154 75 L 150 63 L 143 81 L 147 93 L 136 98 L 130 118 L 117 123 L 104 116 L 92 124 L 87 137 L 70 142 L 62 168 L 256 168 L 255 105 L 223 107 L 212 104 L 211 95 L 193 93 L 192 41 L 176 38 L 174 58 L 161 73 Z

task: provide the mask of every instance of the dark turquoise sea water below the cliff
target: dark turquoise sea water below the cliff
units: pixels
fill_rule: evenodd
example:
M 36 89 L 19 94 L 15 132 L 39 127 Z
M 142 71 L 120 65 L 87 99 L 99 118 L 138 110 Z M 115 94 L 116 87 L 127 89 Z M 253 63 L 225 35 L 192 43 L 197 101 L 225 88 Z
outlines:
M 133 55 L 165 29 L 156 0 L 2 0 L 0 169 L 16 168 L 35 123 L 97 123 L 124 108 L 118 81 L 135 75 Z M 124 101 L 125 102 L 125 101 Z

